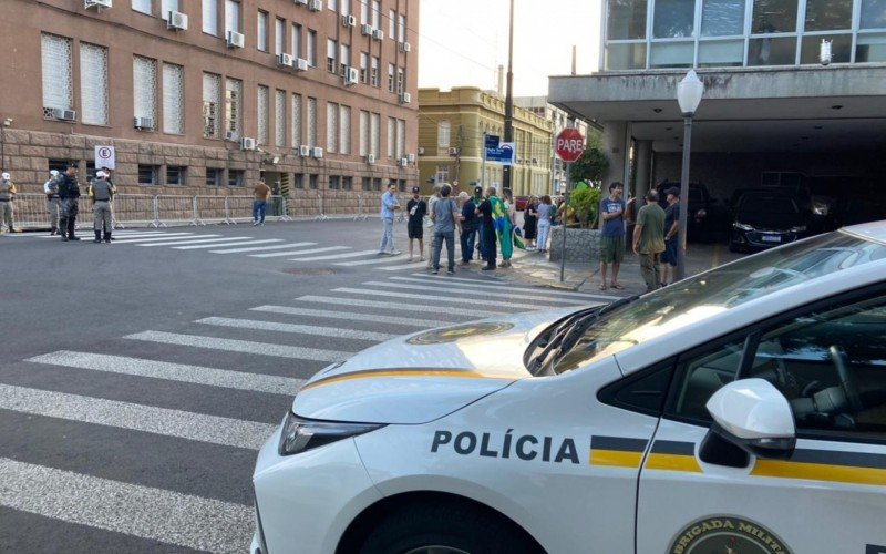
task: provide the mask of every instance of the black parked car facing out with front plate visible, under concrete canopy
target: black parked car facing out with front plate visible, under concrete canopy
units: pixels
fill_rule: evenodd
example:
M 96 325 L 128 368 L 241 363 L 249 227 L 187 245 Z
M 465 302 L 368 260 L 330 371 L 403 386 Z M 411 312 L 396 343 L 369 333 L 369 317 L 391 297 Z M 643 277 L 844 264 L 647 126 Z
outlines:
M 808 235 L 810 212 L 802 195 L 786 188 L 760 187 L 736 191 L 733 197 L 730 250 L 762 250 Z

